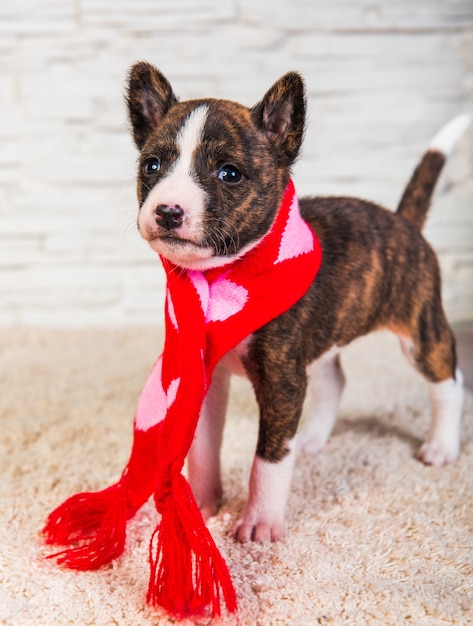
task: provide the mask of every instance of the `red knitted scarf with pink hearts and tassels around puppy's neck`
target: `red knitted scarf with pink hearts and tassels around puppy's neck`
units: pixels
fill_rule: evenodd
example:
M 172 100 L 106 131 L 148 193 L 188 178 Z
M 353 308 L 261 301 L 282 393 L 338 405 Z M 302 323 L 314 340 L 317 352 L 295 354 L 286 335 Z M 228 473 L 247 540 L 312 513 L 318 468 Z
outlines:
M 150 542 L 148 602 L 178 618 L 215 616 L 222 595 L 236 611 L 236 595 L 181 470 L 215 365 L 304 295 L 321 249 L 290 181 L 272 229 L 242 258 L 206 272 L 162 262 L 164 352 L 138 403 L 128 464 L 115 485 L 66 500 L 44 533 L 47 543 L 70 546 L 51 555 L 59 563 L 96 569 L 123 552 L 127 520 L 154 494 L 161 519 Z

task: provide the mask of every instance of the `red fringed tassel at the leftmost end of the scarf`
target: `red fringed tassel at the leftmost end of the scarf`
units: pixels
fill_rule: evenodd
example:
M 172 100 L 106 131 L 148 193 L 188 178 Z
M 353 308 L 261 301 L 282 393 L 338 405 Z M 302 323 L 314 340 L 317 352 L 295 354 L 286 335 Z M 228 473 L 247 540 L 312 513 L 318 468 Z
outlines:
M 125 489 L 117 483 L 95 493 L 78 493 L 48 517 L 43 533 L 46 543 L 75 545 L 51 554 L 71 569 L 98 569 L 122 554 L 125 548 L 127 506 Z

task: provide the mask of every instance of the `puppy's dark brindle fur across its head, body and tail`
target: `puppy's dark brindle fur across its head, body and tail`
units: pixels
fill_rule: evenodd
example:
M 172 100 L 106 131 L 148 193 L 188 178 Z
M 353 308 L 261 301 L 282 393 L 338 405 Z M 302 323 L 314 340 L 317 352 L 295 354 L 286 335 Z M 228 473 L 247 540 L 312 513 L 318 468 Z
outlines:
M 170 84 L 147 63 L 130 73 L 128 106 L 141 150 L 140 205 L 177 158 L 175 138 L 191 111 L 209 116 L 195 155 L 195 179 L 208 194 L 204 229 L 215 255 L 234 254 L 259 240 L 274 220 L 302 142 L 303 81 L 291 72 L 252 109 L 223 100 L 178 102 Z M 143 164 L 159 156 L 149 176 Z M 256 331 L 244 367 L 260 407 L 257 455 L 279 461 L 297 429 L 306 367 L 332 346 L 389 328 L 411 340 L 419 371 L 432 382 L 455 376 L 453 333 L 441 304 L 434 252 L 420 234 L 443 155 L 424 157 L 398 214 L 355 198 L 303 198 L 303 217 L 317 233 L 323 262 L 314 284 L 289 311 Z M 216 172 L 231 163 L 241 184 L 222 186 Z M 218 236 L 215 233 L 218 231 Z

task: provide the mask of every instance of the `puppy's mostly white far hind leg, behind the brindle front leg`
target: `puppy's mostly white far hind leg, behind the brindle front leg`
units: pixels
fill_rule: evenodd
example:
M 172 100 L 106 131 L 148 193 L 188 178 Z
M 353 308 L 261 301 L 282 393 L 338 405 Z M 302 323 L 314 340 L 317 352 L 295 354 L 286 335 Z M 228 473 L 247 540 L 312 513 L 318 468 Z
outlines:
M 308 368 L 310 408 L 301 432 L 299 448 L 315 454 L 327 443 L 337 419 L 345 376 L 337 348 L 329 350 Z

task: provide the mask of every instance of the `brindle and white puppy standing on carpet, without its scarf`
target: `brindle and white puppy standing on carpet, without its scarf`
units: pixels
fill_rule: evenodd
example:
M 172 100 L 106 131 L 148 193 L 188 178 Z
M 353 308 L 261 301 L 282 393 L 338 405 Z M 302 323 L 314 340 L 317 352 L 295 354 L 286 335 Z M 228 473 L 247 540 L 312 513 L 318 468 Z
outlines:
M 137 63 L 127 104 L 140 150 L 138 229 L 151 248 L 179 267 L 205 271 L 254 247 L 274 222 L 301 147 L 301 77 L 286 74 L 250 109 L 216 99 L 179 102 L 156 68 Z M 340 350 L 370 331 L 394 332 L 429 385 L 432 425 L 418 458 L 441 466 L 457 457 L 462 375 L 437 259 L 421 228 L 446 155 L 468 123 L 460 116 L 436 136 L 396 213 L 357 198 L 300 200 L 322 245 L 321 269 L 290 310 L 216 368 L 188 456 L 195 498 L 203 515 L 212 515 L 222 496 L 230 375 L 248 376 L 260 421 L 248 501 L 233 530 L 238 541 L 283 537 L 297 449 L 317 452 L 327 441 L 344 386 Z M 312 409 L 296 439 L 308 385 Z

